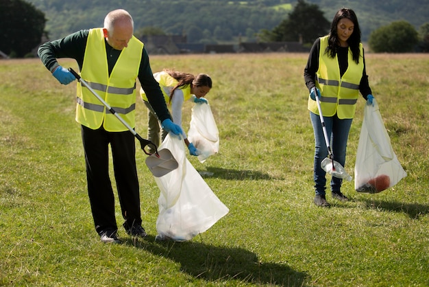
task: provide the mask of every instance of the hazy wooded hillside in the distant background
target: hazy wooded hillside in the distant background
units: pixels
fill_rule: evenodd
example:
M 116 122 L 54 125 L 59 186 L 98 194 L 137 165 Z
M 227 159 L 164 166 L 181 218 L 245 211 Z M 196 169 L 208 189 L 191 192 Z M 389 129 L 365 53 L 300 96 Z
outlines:
M 256 41 L 255 33 L 272 30 L 288 17 L 297 1 L 288 0 L 27 0 L 45 12 L 49 38 L 80 29 L 101 27 L 104 16 L 117 8 L 132 14 L 135 30 L 158 27 L 167 34 L 186 34 L 189 42 L 228 43 L 238 36 Z M 307 0 L 324 12 L 328 21 L 347 5 L 358 15 L 363 41 L 372 30 L 405 20 L 419 28 L 429 22 L 429 0 Z M 288 5 L 289 4 L 289 5 Z M 308 15 L 310 17 L 311 15 Z

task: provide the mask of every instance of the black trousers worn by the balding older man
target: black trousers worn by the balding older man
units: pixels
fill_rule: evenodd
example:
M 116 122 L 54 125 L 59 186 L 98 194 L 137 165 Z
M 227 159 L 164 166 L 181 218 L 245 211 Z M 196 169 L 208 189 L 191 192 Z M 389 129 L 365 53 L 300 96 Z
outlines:
M 114 179 L 125 229 L 141 225 L 140 191 L 136 169 L 136 146 L 130 131 L 110 133 L 102 127 L 82 126 L 88 196 L 95 230 L 116 231 L 114 194 L 109 177 L 109 144 L 112 150 Z

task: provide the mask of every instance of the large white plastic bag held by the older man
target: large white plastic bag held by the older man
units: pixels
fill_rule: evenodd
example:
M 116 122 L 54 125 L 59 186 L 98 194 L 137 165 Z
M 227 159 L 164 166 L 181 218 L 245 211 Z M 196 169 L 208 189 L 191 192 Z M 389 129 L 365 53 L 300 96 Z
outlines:
M 229 209 L 186 159 L 187 150 L 182 139 L 167 135 L 162 148 L 171 151 L 179 166 L 164 176 L 154 177 L 160 188 L 158 238 L 191 240 L 228 214 Z

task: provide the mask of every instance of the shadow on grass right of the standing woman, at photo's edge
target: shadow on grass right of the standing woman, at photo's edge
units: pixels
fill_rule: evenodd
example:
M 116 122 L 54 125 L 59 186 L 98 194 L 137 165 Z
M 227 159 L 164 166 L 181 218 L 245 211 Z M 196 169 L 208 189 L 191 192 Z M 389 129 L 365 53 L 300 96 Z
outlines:
M 419 219 L 420 216 L 429 214 L 429 205 L 419 203 L 401 203 L 397 201 L 365 200 L 368 207 L 387 211 L 404 212 L 410 218 Z

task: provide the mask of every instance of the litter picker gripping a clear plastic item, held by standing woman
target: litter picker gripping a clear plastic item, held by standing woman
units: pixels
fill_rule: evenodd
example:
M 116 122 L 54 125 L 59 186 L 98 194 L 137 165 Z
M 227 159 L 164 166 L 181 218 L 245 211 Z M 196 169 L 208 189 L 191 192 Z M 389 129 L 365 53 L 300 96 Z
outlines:
M 321 161 L 321 164 L 320 164 L 321 168 L 323 168 L 323 170 L 328 174 L 331 174 L 332 176 L 335 176 L 339 179 L 352 181 L 352 176 L 350 176 L 350 174 L 347 174 L 347 172 L 343 168 L 343 165 L 341 165 L 338 161 L 334 161 L 334 154 L 332 153 L 332 150 L 331 150 L 330 140 L 328 138 L 328 131 L 326 130 L 325 119 L 323 119 L 323 115 L 321 112 L 320 100 L 319 100 L 319 96 L 317 95 L 316 87 L 314 88 L 314 91 L 315 91 L 315 97 L 317 102 L 317 108 L 319 109 L 319 117 L 320 117 L 322 129 L 323 129 L 323 136 L 325 137 L 326 148 L 328 148 L 328 157 L 326 157 L 325 159 L 323 159 L 323 161 Z

